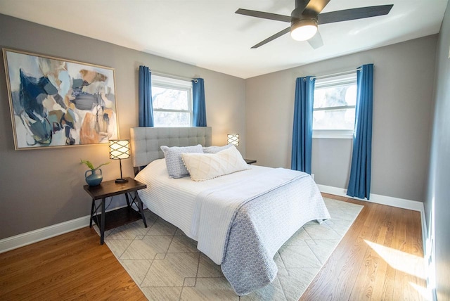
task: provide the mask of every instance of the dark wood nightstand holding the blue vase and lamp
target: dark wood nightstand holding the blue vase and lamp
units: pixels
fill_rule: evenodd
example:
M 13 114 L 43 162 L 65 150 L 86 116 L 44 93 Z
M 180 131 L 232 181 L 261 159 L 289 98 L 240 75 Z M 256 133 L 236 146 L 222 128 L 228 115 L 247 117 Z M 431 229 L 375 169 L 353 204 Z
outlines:
M 146 217 L 143 214 L 142 201 L 139 198 L 139 189 L 147 188 L 146 184 L 142 184 L 135 179 L 126 178 L 125 183 L 116 183 L 115 180 L 104 181 L 97 186 L 84 185 L 84 190 L 89 193 L 92 198 L 91 206 L 91 221 L 89 227 L 92 226 L 92 220 L 100 229 L 100 244 L 103 245 L 105 241 L 105 230 L 113 229 L 117 226 L 134 222 L 138 219 L 143 220 L 144 226 L 147 228 Z M 134 197 L 131 196 L 134 192 Z M 119 196 L 124 194 L 127 198 L 127 207 L 105 212 L 105 199 L 108 197 Z M 131 198 L 131 202 L 130 202 Z M 96 200 L 101 200 L 101 204 L 96 207 Z M 139 212 L 131 208 L 135 204 L 139 208 Z M 98 208 L 101 207 L 101 214 L 97 213 Z

